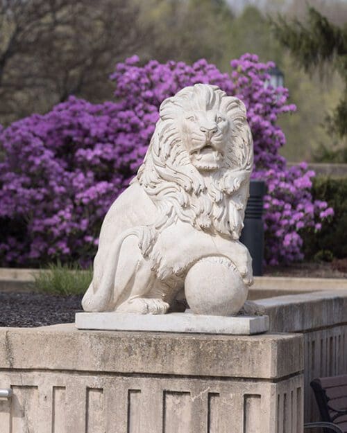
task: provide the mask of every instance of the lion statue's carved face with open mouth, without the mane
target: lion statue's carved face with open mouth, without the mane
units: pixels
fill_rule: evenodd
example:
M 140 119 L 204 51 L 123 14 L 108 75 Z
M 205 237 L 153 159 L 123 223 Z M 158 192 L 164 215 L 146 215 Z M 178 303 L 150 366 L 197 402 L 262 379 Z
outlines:
M 178 116 L 177 123 L 193 166 L 199 171 L 221 168 L 230 140 L 230 119 L 219 109 L 189 110 Z

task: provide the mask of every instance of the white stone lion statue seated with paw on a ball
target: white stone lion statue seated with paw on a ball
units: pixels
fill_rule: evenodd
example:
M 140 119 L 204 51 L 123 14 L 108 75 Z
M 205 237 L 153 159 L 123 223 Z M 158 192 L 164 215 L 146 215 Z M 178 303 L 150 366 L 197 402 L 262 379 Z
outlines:
M 163 314 L 174 308 L 187 274 L 189 287 L 196 279 L 213 286 L 210 272 L 232 269 L 241 295 L 222 315 L 236 314 L 252 283 L 251 256 L 238 240 L 252 167 L 241 100 L 204 84 L 164 100 L 137 177 L 103 221 L 84 310 Z M 208 290 L 218 297 L 217 287 Z

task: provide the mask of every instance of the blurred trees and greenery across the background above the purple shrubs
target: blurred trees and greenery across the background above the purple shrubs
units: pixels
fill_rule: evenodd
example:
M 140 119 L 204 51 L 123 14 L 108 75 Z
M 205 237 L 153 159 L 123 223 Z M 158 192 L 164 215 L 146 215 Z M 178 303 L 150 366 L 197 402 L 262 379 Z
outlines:
M 250 3 L 261 6 L 261 10 Z M 248 6 L 247 6 L 248 4 Z M 242 7 L 245 6 L 246 7 Z M 116 62 L 137 53 L 143 62 L 206 58 L 222 71 L 245 52 L 274 60 L 285 73 L 297 112 L 282 118 L 290 161 L 331 159 L 326 150 L 346 138 L 322 127 L 344 91 L 329 64 L 305 72 L 271 31 L 269 16 L 305 23 L 307 6 L 344 26 L 338 0 L 11 0 L 0 6 L 0 123 L 49 111 L 69 94 L 91 102 L 112 99 Z M 325 150 L 322 152 L 322 149 Z

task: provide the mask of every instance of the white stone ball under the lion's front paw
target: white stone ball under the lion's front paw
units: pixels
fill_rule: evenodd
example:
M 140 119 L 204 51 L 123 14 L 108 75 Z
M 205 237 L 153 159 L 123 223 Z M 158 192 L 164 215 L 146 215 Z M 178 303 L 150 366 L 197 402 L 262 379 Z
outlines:
M 198 315 L 237 315 L 247 299 L 248 287 L 226 257 L 201 258 L 185 278 L 185 297 Z

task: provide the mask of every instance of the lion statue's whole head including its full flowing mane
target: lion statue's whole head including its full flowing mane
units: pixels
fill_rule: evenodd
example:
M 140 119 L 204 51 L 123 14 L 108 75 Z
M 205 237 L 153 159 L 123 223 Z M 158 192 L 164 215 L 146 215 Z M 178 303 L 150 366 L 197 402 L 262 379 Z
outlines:
M 252 164 L 244 103 L 217 86 L 197 84 L 160 105 L 160 120 L 137 179 L 160 210 L 158 227 L 179 218 L 237 238 L 230 199 L 244 212 L 246 197 L 237 196 L 242 188 L 235 185 L 248 181 Z M 247 195 L 248 182 L 246 189 Z

